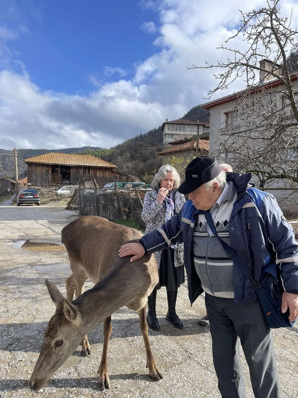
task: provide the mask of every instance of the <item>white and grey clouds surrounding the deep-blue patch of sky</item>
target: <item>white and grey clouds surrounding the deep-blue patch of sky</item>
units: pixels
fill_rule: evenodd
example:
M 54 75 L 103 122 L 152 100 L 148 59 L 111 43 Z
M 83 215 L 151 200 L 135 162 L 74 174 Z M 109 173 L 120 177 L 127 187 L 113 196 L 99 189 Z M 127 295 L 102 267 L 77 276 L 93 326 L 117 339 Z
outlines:
M 0 147 L 109 147 L 161 125 L 166 118 L 181 117 L 204 102 L 208 90 L 216 84 L 213 71 L 188 71 L 186 66 L 224 59 L 224 52 L 215 47 L 234 33 L 240 19 L 239 2 L 159 0 L 144 1 L 143 5 L 158 13 L 160 22 L 155 29 L 159 37 L 154 41 L 156 53 L 151 57 L 139 62 L 136 54 L 130 80 L 124 79 L 127 75 L 121 66 L 106 66 L 104 73 L 115 76 L 114 82 L 104 83 L 96 74 L 90 74 L 93 92 L 86 96 L 66 95 L 40 90 L 24 66 L 19 74 L 12 68 L 2 70 Z M 242 8 L 248 11 L 263 5 L 265 0 L 246 0 Z M 283 12 L 293 6 L 294 15 L 298 15 L 296 2 L 284 0 L 281 5 Z M 294 23 L 297 21 L 298 18 Z M 10 31 L 3 32 L 2 36 L 10 39 Z M 245 43 L 239 37 L 233 45 L 243 49 Z M 243 84 L 238 80 L 229 91 L 238 90 Z

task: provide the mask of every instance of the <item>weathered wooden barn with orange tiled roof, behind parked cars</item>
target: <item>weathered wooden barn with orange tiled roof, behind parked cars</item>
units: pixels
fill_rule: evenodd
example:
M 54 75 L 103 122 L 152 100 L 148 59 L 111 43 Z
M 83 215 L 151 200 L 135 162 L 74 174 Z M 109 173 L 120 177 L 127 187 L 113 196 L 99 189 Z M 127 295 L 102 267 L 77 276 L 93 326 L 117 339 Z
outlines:
M 90 155 L 50 152 L 25 159 L 28 184 L 33 187 L 80 185 L 95 179 L 99 186 L 114 181 L 114 164 Z

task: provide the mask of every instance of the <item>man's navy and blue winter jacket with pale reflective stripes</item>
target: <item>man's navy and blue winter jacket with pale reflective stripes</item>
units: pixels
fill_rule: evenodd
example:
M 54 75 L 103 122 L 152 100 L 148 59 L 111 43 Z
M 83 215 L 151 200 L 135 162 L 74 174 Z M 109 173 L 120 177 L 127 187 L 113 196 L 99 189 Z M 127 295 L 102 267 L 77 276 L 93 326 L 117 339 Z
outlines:
M 251 174 L 227 173 L 237 188 L 229 221 L 230 244 L 259 281 L 262 269 L 275 261 L 281 270 L 285 291 L 298 289 L 298 244 L 293 228 L 284 218 L 273 195 L 249 187 Z M 192 235 L 200 210 L 188 200 L 183 209 L 159 229 L 144 235 L 140 242 L 148 253 L 163 250 L 175 242 L 184 243 L 184 265 L 191 304 L 203 292 L 194 267 Z M 234 267 L 235 302 L 257 300 L 252 282 Z

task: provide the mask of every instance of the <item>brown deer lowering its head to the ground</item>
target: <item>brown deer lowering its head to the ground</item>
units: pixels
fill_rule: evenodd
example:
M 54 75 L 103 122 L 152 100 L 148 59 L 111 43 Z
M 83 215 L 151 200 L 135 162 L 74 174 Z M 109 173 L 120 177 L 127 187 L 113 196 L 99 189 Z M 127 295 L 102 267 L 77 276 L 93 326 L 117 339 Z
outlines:
M 62 229 L 62 243 L 72 275 L 66 279 L 66 298 L 52 282 L 45 281 L 56 312 L 46 327 L 29 380 L 32 391 L 44 388 L 80 343 L 83 355 L 90 355 L 87 334 L 101 322 L 104 342 L 97 371 L 99 389 L 110 389 L 107 352 L 112 333 L 111 315 L 123 306 L 138 312 L 150 377 L 154 381 L 163 378 L 151 351 L 146 320 L 147 296 L 159 280 L 155 258 L 146 254 L 131 263 L 130 257 L 118 256 L 122 244 L 139 242 L 141 236 L 138 230 L 97 216 L 78 218 Z M 83 293 L 88 278 L 95 285 Z

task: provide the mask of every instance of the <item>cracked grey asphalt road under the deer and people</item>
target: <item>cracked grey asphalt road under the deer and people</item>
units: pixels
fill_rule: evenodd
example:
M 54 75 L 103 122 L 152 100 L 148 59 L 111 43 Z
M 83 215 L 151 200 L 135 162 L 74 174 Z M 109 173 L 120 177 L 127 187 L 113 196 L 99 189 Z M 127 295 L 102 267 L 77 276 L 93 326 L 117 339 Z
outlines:
M 54 305 L 45 277 L 65 294 L 64 280 L 70 275 L 65 252 L 31 251 L 30 242 L 61 243 L 61 229 L 77 217 L 61 208 L 0 206 L 0 397 L 31 397 L 25 386 L 34 368 L 43 332 Z M 33 244 L 34 246 L 34 244 Z M 35 245 L 36 247 L 38 245 Z M 39 250 L 39 249 L 34 249 Z M 85 289 L 91 287 L 86 283 Z M 136 313 L 121 308 L 112 316 L 113 332 L 108 352 L 112 389 L 101 392 L 97 383 L 103 347 L 102 326 L 89 334 L 90 357 L 80 350 L 66 361 L 41 392 L 42 396 L 220 398 L 212 364 L 209 327 L 197 325 L 205 315 L 203 297 L 190 307 L 187 287 L 178 291 L 177 313 L 184 329 L 173 328 L 164 318 L 166 291 L 157 295 L 157 315 L 162 329 L 150 331 L 155 360 L 163 380 L 153 382 L 145 368 L 145 349 Z M 298 328 L 275 330 L 274 343 L 283 398 L 298 398 Z M 249 373 L 242 353 L 247 398 L 253 398 Z

